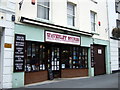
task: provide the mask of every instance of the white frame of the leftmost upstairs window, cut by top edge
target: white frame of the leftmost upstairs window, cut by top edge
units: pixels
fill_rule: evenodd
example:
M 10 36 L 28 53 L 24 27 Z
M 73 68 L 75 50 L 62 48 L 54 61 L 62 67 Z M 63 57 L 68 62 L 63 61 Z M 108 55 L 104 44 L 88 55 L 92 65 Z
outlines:
M 39 0 L 37 0 L 37 19 L 39 19 L 39 20 L 47 20 L 47 21 L 50 20 L 50 9 L 51 9 L 51 7 L 50 7 L 51 6 L 50 5 L 51 4 L 50 0 L 48 0 L 49 1 L 49 5 L 48 6 L 38 3 L 38 1 Z M 42 17 L 38 16 L 38 13 L 39 13 L 38 5 L 42 6 L 43 8 L 48 9 L 48 16 L 46 16 L 45 18 L 42 18 Z

